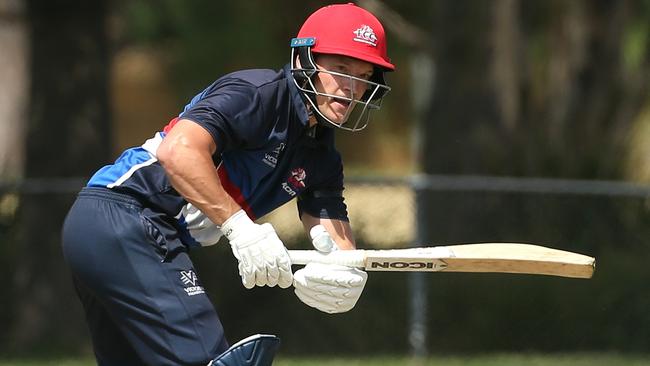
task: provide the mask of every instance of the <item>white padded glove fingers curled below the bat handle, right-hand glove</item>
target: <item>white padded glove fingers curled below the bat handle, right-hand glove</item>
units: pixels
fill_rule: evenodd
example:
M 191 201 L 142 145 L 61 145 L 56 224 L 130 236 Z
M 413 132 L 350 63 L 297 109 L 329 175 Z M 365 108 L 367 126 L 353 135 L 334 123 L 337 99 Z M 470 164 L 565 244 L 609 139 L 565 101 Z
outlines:
M 344 313 L 356 305 L 368 274 L 356 268 L 309 263 L 293 276 L 298 298 L 322 312 Z

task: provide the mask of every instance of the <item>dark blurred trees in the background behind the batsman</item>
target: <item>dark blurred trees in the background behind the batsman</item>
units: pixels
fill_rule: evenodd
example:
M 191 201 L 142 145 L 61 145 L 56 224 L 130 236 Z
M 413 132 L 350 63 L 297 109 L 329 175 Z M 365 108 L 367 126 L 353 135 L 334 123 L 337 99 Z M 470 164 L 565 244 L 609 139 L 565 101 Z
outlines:
M 49 179 L 50 189 L 34 184 L 0 192 L 0 274 L 8 288 L 0 297 L 0 352 L 88 350 L 59 253 L 60 225 L 74 199 L 65 184 L 140 145 L 220 75 L 282 67 L 289 40 L 326 3 L 0 0 L 3 187 Z M 650 181 L 650 1 L 357 3 L 384 22 L 397 72 L 388 75 L 393 91 L 369 128 L 339 134 L 348 175 Z M 52 194 L 57 179 L 61 192 Z M 645 200 L 435 192 L 417 200 L 420 214 L 435 223 L 422 234 L 426 242 L 522 239 L 618 260 L 605 265 L 615 275 L 580 286 L 436 277 L 432 286 L 447 302 L 433 305 L 444 319 L 430 327 L 450 332 L 436 339 L 438 349 L 647 351 L 650 302 L 640 292 L 649 274 L 639 267 L 650 250 Z M 336 351 L 335 341 L 300 343 L 323 334 L 343 339 L 343 352 L 407 348 L 404 337 L 386 336 L 406 332 L 404 276 L 378 274 L 359 304 L 363 310 L 331 319 L 274 289 L 244 291 L 226 249 L 208 251 L 197 261 L 212 268 L 204 281 L 218 288 L 215 303 L 228 314 L 233 339 L 268 330 L 281 333 L 290 352 Z M 486 290 L 499 287 L 509 297 Z M 512 310 L 517 302 L 521 307 Z M 246 318 L 259 303 L 265 311 Z M 508 328 L 492 337 L 500 323 L 525 323 L 531 314 L 537 318 L 523 334 Z M 603 334 L 598 322 L 611 332 Z M 368 333 L 358 330 L 367 324 L 372 334 L 358 336 Z

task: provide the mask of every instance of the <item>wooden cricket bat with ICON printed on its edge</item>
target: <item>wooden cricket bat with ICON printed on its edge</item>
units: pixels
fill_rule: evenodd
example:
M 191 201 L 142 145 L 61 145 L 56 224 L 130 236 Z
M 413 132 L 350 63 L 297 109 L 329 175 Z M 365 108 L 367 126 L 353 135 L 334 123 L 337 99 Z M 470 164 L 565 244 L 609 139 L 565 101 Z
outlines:
M 366 271 L 491 272 L 591 278 L 596 259 L 522 243 L 479 243 L 389 250 L 289 250 L 293 264 L 339 264 Z

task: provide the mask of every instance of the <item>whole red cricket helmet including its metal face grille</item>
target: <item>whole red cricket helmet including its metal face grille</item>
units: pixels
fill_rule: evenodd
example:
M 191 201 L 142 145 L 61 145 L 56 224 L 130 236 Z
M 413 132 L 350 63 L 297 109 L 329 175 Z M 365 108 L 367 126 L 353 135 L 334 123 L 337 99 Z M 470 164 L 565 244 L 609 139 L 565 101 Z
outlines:
M 373 64 L 370 79 L 359 79 L 320 68 L 314 55 L 332 54 L 351 57 Z M 384 72 L 395 70 L 386 54 L 386 34 L 379 20 L 367 10 L 352 3 L 329 5 L 318 9 L 307 18 L 298 36 L 291 40 L 291 74 L 295 85 L 303 93 L 310 112 L 316 120 L 329 127 L 348 131 L 363 130 L 370 120 L 370 112 L 378 110 L 383 97 L 390 91 L 384 80 Z M 328 73 L 347 80 L 350 85 L 363 83 L 363 95 L 326 94 L 314 84 L 319 73 Z M 352 89 L 352 88 L 350 88 Z M 345 99 L 349 103 L 341 121 L 333 121 L 320 111 L 317 97 Z

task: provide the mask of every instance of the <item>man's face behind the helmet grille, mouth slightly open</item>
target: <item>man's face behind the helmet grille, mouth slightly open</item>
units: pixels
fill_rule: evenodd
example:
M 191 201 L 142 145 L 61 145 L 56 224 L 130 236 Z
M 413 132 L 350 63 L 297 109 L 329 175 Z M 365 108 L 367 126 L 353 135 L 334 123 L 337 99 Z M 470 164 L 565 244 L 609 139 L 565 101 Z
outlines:
M 321 70 L 350 75 L 363 80 L 369 80 L 374 70 L 371 63 L 347 56 L 320 54 L 316 56 L 315 61 Z M 361 99 L 368 89 L 368 84 L 364 82 L 326 72 L 318 73 L 314 85 L 320 93 L 356 100 Z M 348 109 L 354 107 L 348 100 L 324 95 L 318 95 L 316 103 L 325 117 L 338 124 L 345 122 Z

